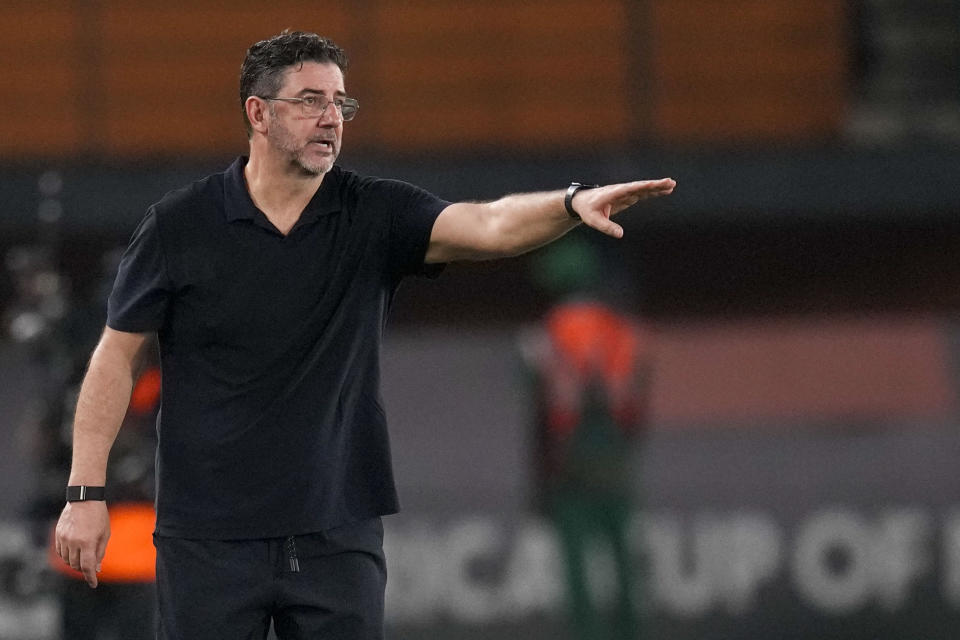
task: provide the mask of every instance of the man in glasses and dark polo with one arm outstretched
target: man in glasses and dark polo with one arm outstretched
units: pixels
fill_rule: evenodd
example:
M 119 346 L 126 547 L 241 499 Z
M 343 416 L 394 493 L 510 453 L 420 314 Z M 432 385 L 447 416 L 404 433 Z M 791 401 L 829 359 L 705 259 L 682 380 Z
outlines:
M 445 202 L 335 166 L 346 57 L 294 32 L 241 69 L 249 158 L 167 194 L 121 263 L 74 420 L 57 551 L 96 586 L 110 446 L 159 336 L 158 637 L 382 638 L 380 516 L 397 510 L 381 330 L 407 275 L 523 253 L 669 179 Z

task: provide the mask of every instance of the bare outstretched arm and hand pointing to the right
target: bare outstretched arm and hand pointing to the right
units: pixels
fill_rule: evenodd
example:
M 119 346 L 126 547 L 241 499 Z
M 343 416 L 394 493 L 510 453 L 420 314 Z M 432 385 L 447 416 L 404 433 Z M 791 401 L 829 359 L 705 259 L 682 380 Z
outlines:
M 641 200 L 668 195 L 670 178 L 612 184 L 578 191 L 573 208 L 583 224 L 615 238 L 623 228 L 611 218 Z M 525 253 L 562 236 L 579 224 L 563 205 L 565 192 L 511 195 L 493 202 L 458 202 L 433 225 L 426 262 L 485 260 Z

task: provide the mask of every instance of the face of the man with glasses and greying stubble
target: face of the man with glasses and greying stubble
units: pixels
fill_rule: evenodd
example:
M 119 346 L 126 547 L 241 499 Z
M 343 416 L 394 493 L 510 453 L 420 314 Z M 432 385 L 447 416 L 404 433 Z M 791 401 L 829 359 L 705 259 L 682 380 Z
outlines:
M 343 72 L 335 64 L 304 62 L 284 73 L 278 98 L 316 96 L 321 101 L 342 100 Z M 270 101 L 267 140 L 304 173 L 320 175 L 333 167 L 340 154 L 343 118 L 330 105 L 322 115 L 306 117 L 295 102 Z

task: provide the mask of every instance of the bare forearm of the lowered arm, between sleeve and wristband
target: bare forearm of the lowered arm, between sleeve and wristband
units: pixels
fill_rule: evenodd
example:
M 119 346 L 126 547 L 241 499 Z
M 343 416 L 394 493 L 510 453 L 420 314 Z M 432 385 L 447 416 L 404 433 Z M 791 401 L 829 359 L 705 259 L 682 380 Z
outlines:
M 80 388 L 73 421 L 71 485 L 106 484 L 107 457 L 133 391 L 136 363 L 99 345 Z

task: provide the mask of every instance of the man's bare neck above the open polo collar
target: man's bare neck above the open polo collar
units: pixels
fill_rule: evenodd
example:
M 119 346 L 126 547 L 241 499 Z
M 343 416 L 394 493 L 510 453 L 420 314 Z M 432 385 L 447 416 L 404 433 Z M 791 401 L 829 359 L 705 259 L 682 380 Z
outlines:
M 283 234 L 300 219 L 325 175 L 306 174 L 285 159 L 267 157 L 253 150 L 243 174 L 253 203 Z

